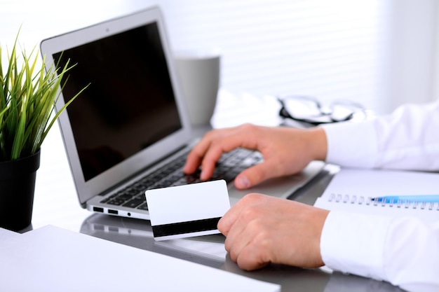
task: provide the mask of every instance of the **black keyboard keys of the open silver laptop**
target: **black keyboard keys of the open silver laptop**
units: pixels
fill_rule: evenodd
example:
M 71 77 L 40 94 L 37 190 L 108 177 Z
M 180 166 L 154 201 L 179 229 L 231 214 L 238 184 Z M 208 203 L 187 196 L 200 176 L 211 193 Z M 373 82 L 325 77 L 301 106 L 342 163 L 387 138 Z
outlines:
M 186 162 L 188 153 L 168 163 L 157 172 L 144 176 L 133 185 L 119 190 L 119 192 L 106 197 L 100 201 L 106 204 L 116 206 L 130 207 L 135 209 L 148 210 L 145 190 L 152 188 L 165 188 L 168 186 L 182 186 L 188 183 L 198 183 L 200 180 L 200 171 L 194 174 L 184 174 L 183 166 Z M 224 179 L 227 183 L 233 181 L 235 177 L 244 169 L 256 165 L 262 161 L 262 154 L 257 151 L 251 151 L 245 148 L 236 148 L 228 153 L 223 153 L 218 160 L 215 172 L 210 181 Z

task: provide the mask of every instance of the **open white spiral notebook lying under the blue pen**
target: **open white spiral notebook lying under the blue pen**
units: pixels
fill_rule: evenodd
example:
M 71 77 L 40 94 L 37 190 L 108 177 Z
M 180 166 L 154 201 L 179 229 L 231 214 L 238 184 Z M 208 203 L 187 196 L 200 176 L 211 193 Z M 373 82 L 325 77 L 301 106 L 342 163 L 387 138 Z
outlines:
M 416 216 L 439 221 L 439 202 L 421 200 L 439 194 L 439 174 L 394 170 L 341 169 L 318 197 L 315 207 L 386 216 Z M 379 202 L 389 195 L 419 197 L 419 200 Z

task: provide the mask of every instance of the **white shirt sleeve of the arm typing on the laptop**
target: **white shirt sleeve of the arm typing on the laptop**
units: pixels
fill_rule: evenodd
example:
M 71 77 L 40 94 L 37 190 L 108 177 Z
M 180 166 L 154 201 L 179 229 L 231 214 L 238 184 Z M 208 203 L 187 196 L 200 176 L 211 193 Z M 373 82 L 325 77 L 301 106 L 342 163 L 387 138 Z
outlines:
M 327 162 L 346 167 L 439 169 L 439 102 L 406 104 L 390 116 L 323 129 Z

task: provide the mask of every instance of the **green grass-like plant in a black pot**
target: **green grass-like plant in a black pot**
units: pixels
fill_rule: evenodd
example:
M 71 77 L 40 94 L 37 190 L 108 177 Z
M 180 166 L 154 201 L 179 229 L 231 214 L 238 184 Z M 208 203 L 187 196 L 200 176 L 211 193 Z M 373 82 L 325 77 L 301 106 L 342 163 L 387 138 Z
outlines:
M 55 113 L 62 77 L 72 68 L 68 63 L 46 72 L 37 50 L 27 55 L 18 48 L 17 36 L 3 58 L 0 45 L 0 227 L 16 231 L 32 221 L 41 144 L 74 100 Z

